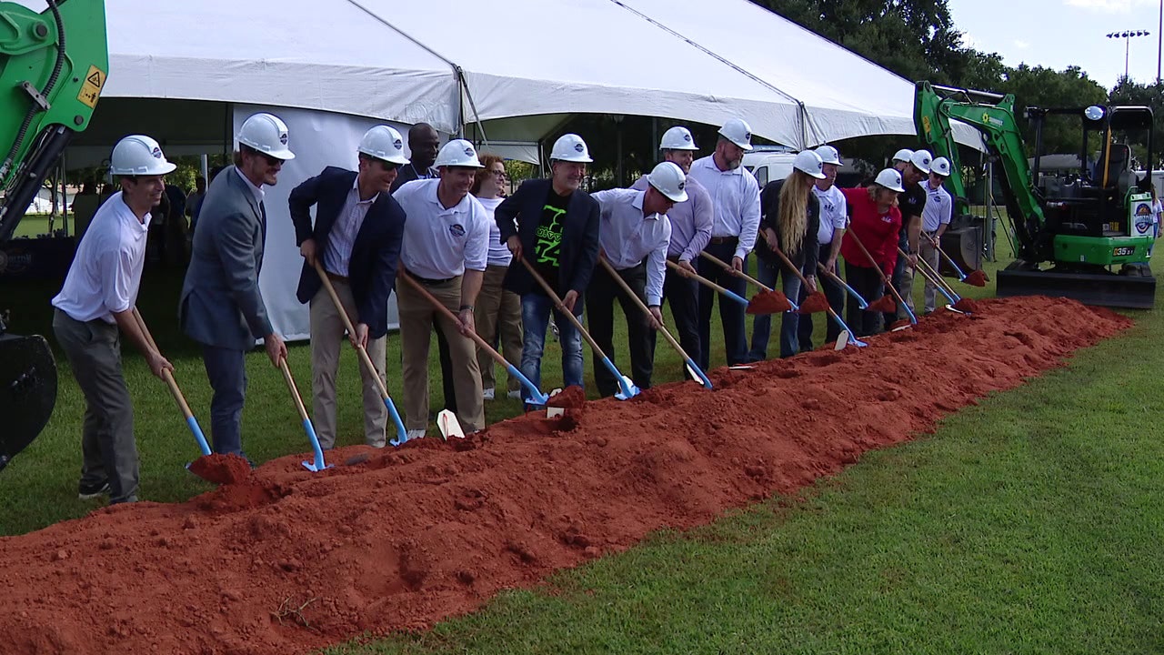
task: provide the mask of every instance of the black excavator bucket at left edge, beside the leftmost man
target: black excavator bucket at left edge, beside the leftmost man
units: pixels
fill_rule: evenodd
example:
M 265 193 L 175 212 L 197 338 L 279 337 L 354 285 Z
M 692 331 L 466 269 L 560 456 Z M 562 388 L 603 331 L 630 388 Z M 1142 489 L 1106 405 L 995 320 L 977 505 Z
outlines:
M 57 402 L 57 366 L 44 337 L 0 334 L 0 470 L 33 443 Z

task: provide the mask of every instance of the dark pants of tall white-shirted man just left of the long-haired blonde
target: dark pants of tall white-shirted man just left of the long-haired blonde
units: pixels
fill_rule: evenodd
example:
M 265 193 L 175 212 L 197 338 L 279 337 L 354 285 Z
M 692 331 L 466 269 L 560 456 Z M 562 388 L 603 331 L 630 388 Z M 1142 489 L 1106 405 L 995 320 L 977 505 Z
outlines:
M 708 244 L 703 248 L 705 253 L 716 259 L 731 265 L 732 256 L 736 255 L 736 239 L 729 239 L 723 244 Z M 718 263 L 714 263 L 700 258 L 696 266 L 700 275 L 724 287 L 729 291 L 747 297 L 747 282 L 743 277 L 737 277 L 728 273 Z M 747 269 L 747 258 L 744 258 L 744 269 Z M 700 368 L 707 371 L 711 364 L 711 308 L 716 304 L 716 291 L 704 286 L 700 286 L 700 350 L 702 359 L 695 360 Z M 744 364 L 747 358 L 747 336 L 744 333 L 744 305 L 732 301 L 719 298 L 719 319 L 724 326 L 724 350 L 728 352 L 728 365 L 734 366 Z

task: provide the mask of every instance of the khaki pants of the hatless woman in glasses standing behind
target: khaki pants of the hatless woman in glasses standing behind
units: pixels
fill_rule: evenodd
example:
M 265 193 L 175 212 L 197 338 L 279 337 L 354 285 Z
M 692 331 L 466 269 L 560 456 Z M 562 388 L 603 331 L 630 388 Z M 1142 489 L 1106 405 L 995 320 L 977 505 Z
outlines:
M 502 288 L 505 280 L 505 272 L 509 267 L 489 266 L 485 268 L 485 277 L 481 284 L 481 293 L 477 294 L 477 305 L 474 311 L 474 321 L 477 324 L 477 334 L 492 344 L 501 334 L 502 352 L 505 361 L 514 368 L 521 366 L 521 296 Z M 477 348 L 477 367 L 481 368 L 481 387 L 494 388 L 494 358 L 482 348 Z M 517 378 L 509 376 L 509 390 L 516 392 L 521 388 L 521 382 Z

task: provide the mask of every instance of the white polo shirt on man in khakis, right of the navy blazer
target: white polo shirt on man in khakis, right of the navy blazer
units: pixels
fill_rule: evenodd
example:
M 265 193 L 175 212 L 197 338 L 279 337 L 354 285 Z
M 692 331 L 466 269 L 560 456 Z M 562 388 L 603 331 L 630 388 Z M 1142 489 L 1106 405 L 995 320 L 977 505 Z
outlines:
M 409 273 L 428 280 L 456 277 L 464 269 L 484 270 L 489 255 L 485 209 L 466 193 L 445 209 L 436 198 L 440 179 L 413 179 L 392 193 L 404 207 L 400 261 Z

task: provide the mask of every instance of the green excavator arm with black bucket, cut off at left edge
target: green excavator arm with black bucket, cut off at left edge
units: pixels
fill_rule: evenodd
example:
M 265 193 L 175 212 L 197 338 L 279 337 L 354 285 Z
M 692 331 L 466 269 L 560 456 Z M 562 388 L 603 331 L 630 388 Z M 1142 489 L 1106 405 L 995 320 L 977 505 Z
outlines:
M 104 0 L 45 2 L 41 13 L 0 2 L 0 89 L 8 90 L 0 93 L 0 150 L 7 150 L 0 244 L 12 238 L 72 136 L 88 127 L 109 71 Z M 6 333 L 2 317 L 0 470 L 44 429 L 57 397 L 48 341 Z

